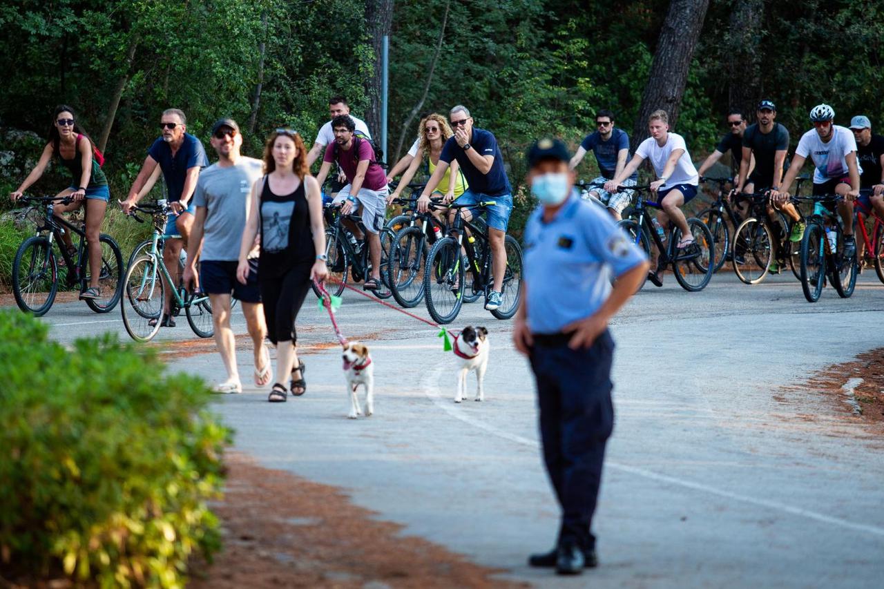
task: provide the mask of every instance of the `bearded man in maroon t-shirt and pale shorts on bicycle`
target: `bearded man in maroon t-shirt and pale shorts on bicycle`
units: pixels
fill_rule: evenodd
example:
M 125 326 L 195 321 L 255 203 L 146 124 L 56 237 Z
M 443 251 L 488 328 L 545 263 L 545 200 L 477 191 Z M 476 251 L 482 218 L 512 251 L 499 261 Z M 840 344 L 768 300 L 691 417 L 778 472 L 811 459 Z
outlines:
M 331 130 L 334 132 L 334 142 L 325 148 L 323 165 L 316 180 L 322 186 L 331 164 L 335 162 L 347 176 L 347 186 L 340 189 L 333 202 L 342 203 L 340 211 L 344 215 L 362 210 L 362 224 L 369 232 L 367 239 L 371 257 L 371 277 L 365 281 L 362 289 L 377 290 L 381 276 L 381 241 L 378 233 L 384 227 L 386 196 L 390 192 L 386 174 L 384 168 L 374 161 L 375 150 L 371 143 L 355 136 L 356 124 L 353 119 L 347 115 L 335 117 L 331 121 Z M 362 239 L 359 227 L 347 220 L 344 223 L 357 239 Z

